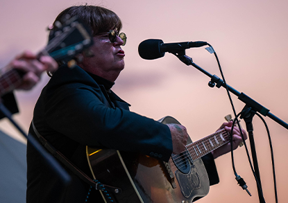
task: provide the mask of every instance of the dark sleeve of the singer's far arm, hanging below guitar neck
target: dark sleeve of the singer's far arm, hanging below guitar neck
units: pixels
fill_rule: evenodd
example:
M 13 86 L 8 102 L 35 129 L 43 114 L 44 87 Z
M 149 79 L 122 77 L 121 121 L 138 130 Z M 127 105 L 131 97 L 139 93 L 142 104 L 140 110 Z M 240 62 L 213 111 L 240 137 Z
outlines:
M 210 186 L 214 184 L 218 184 L 219 176 L 217 173 L 217 168 L 216 168 L 212 153 L 209 153 L 208 155 L 205 155 L 204 157 L 202 157 L 202 161 L 203 161 L 203 164 L 206 168 L 206 171 L 209 177 Z

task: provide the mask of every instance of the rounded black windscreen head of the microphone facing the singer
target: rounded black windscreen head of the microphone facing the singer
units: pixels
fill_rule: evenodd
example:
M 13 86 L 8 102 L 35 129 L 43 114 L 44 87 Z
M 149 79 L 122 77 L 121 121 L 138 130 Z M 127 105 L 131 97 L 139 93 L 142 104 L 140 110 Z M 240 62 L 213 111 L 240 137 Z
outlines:
M 160 51 L 160 44 L 163 44 L 161 39 L 146 39 L 138 46 L 138 53 L 141 58 L 153 60 L 161 58 L 165 55 Z

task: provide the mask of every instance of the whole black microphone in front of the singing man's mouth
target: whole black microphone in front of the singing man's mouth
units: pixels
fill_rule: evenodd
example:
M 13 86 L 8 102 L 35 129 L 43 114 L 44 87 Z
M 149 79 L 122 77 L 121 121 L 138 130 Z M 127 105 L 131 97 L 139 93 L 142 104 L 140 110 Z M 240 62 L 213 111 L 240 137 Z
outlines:
M 178 53 L 187 48 L 201 47 L 207 45 L 207 42 L 178 42 L 178 43 L 165 43 L 162 39 L 146 39 L 138 46 L 138 53 L 141 58 L 146 60 L 153 60 L 161 58 L 165 52 Z

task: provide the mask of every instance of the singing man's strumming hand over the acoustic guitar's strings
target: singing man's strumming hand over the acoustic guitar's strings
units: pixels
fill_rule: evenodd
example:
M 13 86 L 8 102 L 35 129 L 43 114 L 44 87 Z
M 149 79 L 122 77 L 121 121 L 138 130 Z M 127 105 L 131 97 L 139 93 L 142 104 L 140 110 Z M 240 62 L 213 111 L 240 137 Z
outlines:
M 178 124 L 167 124 L 172 137 L 172 144 L 173 144 L 173 153 L 175 155 L 180 154 L 180 152 L 183 152 L 186 148 L 188 134 L 186 127 L 183 125 Z

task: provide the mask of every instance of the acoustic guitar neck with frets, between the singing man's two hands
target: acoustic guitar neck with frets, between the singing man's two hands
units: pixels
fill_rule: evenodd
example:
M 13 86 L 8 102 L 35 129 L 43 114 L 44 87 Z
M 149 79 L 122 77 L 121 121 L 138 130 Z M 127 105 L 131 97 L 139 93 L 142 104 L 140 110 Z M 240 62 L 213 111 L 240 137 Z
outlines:
M 228 143 L 230 141 L 229 137 L 229 132 L 224 129 L 219 130 L 194 143 L 189 143 L 189 145 L 186 145 L 186 148 L 189 151 L 192 160 L 196 161 L 197 159 L 200 159 L 213 150 Z

